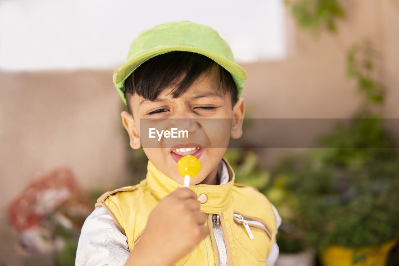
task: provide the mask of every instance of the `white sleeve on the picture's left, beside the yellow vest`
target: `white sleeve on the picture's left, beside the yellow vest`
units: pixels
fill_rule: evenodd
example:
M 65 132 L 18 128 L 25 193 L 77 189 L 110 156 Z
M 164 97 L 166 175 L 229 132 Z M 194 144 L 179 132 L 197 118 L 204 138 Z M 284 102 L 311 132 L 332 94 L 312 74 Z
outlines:
M 126 236 L 107 210 L 97 207 L 83 224 L 75 266 L 122 266 L 129 255 Z

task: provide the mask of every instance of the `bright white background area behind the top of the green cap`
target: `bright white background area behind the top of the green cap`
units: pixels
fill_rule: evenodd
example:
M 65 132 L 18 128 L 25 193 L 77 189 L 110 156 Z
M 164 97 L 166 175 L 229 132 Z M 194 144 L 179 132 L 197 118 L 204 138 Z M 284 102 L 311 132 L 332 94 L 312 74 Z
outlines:
M 282 0 L 0 0 L 0 69 L 109 69 L 136 36 L 166 21 L 217 30 L 236 62 L 286 55 Z

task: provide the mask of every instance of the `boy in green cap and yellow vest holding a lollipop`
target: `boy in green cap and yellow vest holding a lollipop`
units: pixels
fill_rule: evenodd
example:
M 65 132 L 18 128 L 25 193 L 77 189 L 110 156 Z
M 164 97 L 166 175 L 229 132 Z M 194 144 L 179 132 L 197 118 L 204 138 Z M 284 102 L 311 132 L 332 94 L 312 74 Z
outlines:
M 143 146 L 148 173 L 97 200 L 76 265 L 274 265 L 277 210 L 255 189 L 234 184 L 223 158 L 230 137 L 242 135 L 245 79 L 228 44 L 205 25 L 167 22 L 132 42 L 114 83 L 128 106 L 121 116 L 130 146 Z M 144 145 L 140 123 L 147 121 L 187 130 L 189 138 L 172 145 L 157 136 L 155 147 Z M 190 188 L 182 188 L 177 168 L 184 155 L 201 163 Z

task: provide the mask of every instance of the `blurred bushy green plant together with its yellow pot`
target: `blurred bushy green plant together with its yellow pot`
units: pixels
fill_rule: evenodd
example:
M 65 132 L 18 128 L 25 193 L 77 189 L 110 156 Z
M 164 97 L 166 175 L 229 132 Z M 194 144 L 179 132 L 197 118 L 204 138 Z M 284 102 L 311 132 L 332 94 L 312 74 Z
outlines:
M 311 153 L 292 186 L 327 266 L 385 265 L 399 235 L 397 151 L 381 118 L 358 117 L 324 136 L 330 148 Z

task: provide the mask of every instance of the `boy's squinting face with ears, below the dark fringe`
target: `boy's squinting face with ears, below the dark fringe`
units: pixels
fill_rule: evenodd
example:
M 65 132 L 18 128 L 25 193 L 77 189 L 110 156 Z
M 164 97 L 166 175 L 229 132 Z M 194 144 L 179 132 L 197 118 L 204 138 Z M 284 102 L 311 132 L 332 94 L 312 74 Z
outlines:
M 190 180 L 190 185 L 217 185 L 218 165 L 230 137 L 241 137 L 245 112 L 242 98 L 232 108 L 229 94 L 214 95 L 218 87 L 219 70 L 213 67 L 207 76 L 205 73 L 199 76 L 178 98 L 173 98 L 170 93 L 174 86 L 166 87 L 156 101 L 146 100 L 135 93 L 130 98 L 133 117 L 125 111 L 121 113 L 122 123 L 130 137 L 130 146 L 133 149 L 140 148 L 143 138 L 147 140 L 149 137 L 148 127 L 159 132 L 170 131 L 171 128 L 187 130 L 188 138 L 161 137 L 159 141 L 155 133 L 151 147 L 143 146 L 144 153 L 159 171 L 180 184 L 183 184 L 184 179 L 178 173 L 177 162 L 184 155 L 195 156 L 201 163 L 201 171 Z M 140 132 L 144 135 L 141 141 Z M 195 149 L 177 150 L 182 146 Z

